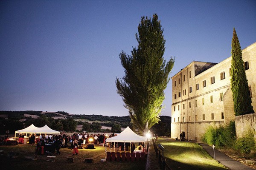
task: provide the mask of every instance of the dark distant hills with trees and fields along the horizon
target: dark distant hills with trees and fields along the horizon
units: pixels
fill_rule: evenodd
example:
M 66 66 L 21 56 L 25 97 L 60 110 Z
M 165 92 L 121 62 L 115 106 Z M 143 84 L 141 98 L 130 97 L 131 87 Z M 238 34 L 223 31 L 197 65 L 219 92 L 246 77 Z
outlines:
M 72 119 L 77 125 L 84 125 L 88 123 L 90 125 L 100 125 L 104 127 L 112 127 L 113 124 L 119 124 L 121 127 L 132 127 L 130 116 L 103 116 L 103 115 L 80 115 L 80 114 L 70 114 L 64 111 L 57 112 L 43 112 L 43 111 L 0 111 L 0 128 L 5 127 L 5 124 L 15 125 L 17 129 L 23 127 L 24 124 L 31 124 L 33 122 L 38 122 L 38 119 L 48 119 L 49 124 L 54 126 L 60 123 L 60 119 Z M 166 136 L 170 133 L 168 129 L 171 122 L 170 116 L 160 116 L 158 124 L 151 127 L 151 133 L 158 134 L 158 136 Z M 41 120 L 42 121 L 42 120 Z M 63 124 L 63 121 L 61 122 Z M 39 120 L 40 122 L 40 120 Z M 56 125 L 55 125 L 56 126 Z M 55 127 L 56 129 L 57 127 Z M 64 128 L 64 127 L 63 127 Z M 3 131 L 1 133 L 4 133 Z

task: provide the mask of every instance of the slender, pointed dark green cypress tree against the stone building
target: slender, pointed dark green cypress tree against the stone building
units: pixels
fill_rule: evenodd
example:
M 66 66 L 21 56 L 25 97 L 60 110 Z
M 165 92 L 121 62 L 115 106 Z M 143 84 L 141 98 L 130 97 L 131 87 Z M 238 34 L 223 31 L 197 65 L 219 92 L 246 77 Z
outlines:
M 233 93 L 235 115 L 254 113 L 250 91 L 244 70 L 242 51 L 236 30 L 233 30 L 231 59 L 231 91 Z

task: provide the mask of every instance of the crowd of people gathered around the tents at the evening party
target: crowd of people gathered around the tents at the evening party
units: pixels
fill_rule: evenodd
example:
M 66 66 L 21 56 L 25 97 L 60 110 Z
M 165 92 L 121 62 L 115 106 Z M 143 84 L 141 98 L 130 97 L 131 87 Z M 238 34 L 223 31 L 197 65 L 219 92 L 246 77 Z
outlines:
M 79 147 L 84 144 L 103 144 L 103 146 L 108 147 L 117 147 L 119 150 L 128 150 L 130 147 L 130 143 L 122 143 L 122 142 L 109 142 L 106 144 L 105 139 L 108 137 L 116 136 L 115 133 L 111 133 L 110 136 L 103 133 L 74 133 L 73 135 L 67 135 L 65 133 L 60 134 L 29 134 L 27 136 L 29 138 L 29 144 L 35 144 L 38 148 L 38 154 L 44 154 L 44 150 L 46 145 L 51 145 L 52 152 L 56 154 L 61 154 L 59 151 L 61 147 L 68 147 L 70 150 L 73 150 L 73 155 L 77 155 L 79 153 Z M 24 143 L 25 134 L 19 135 L 19 143 Z M 140 145 L 144 145 L 143 143 Z M 135 144 L 131 143 L 131 151 L 135 149 Z

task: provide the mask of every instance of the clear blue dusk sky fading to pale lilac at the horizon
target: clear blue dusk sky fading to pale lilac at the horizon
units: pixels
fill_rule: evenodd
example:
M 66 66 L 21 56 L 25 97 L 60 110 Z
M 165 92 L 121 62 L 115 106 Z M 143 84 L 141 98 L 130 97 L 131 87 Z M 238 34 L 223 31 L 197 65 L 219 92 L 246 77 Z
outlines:
M 142 16 L 157 13 L 175 57 L 171 78 L 192 61 L 231 56 L 256 42 L 255 0 L 0 1 L 0 111 L 128 116 L 116 93 L 119 54 L 131 54 Z M 163 116 L 171 116 L 172 80 Z

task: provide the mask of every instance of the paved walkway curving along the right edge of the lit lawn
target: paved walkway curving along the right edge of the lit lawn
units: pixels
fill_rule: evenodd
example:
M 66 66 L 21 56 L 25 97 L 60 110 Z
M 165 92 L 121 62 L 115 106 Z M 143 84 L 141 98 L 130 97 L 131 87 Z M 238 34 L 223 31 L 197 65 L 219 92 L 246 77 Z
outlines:
M 199 144 L 204 148 L 204 150 L 207 151 L 207 153 L 209 153 L 210 156 L 212 156 L 212 158 L 214 157 L 213 148 L 211 146 L 203 143 Z M 229 156 L 225 155 L 224 153 L 221 153 L 218 150 L 215 150 L 215 159 L 216 161 L 220 162 L 230 170 L 254 170 L 253 168 L 241 164 L 239 161 L 230 158 Z

